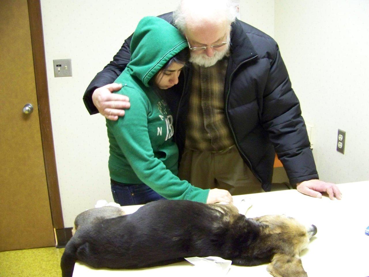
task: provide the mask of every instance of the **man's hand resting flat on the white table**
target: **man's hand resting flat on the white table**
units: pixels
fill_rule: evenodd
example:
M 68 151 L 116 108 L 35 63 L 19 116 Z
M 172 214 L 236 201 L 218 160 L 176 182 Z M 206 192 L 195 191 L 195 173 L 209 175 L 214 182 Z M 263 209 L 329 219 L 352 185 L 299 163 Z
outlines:
M 339 200 L 342 198 L 341 191 L 339 191 L 337 185 L 326 183 L 317 179 L 297 183 L 296 187 L 297 191 L 301 192 L 302 194 L 310 195 L 313 197 L 321 198 L 322 195 L 320 192 L 327 192 L 331 200 L 333 200 L 334 197 Z

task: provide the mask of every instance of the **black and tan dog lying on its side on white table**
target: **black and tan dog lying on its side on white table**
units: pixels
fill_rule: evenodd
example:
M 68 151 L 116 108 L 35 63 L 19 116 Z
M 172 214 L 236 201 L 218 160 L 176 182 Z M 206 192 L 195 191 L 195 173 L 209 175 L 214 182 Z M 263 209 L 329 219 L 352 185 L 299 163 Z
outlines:
M 303 277 L 299 253 L 317 232 L 284 215 L 246 218 L 233 205 L 186 200 L 159 200 L 122 214 L 106 206 L 77 216 L 61 259 L 63 277 L 72 276 L 76 260 L 138 269 L 194 256 L 218 256 L 239 266 L 269 263 L 275 277 Z

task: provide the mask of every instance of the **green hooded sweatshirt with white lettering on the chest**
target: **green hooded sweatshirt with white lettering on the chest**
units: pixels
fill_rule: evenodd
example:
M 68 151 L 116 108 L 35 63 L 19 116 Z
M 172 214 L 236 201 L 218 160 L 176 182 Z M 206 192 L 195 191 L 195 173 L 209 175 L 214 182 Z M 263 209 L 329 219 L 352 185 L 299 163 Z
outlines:
M 116 93 L 130 98 L 131 108 L 117 121 L 106 120 L 110 143 L 110 178 L 144 183 L 167 199 L 206 202 L 209 189 L 181 181 L 178 148 L 172 140 L 173 116 L 148 82 L 174 55 L 187 47 L 179 31 L 158 17 L 144 17 L 132 37 L 131 61 L 115 80 Z

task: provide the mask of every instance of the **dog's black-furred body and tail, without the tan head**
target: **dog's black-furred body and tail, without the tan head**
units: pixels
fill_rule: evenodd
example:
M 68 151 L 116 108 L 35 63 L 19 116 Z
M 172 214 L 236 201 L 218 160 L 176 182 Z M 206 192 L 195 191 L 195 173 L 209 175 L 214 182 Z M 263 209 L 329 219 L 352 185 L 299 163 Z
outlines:
M 79 226 L 65 247 L 63 277 L 76 260 L 92 267 L 137 269 L 169 264 L 184 257 L 218 256 L 254 266 L 271 260 L 260 223 L 235 213 L 231 217 L 193 201 L 160 200 L 130 215 L 94 220 Z

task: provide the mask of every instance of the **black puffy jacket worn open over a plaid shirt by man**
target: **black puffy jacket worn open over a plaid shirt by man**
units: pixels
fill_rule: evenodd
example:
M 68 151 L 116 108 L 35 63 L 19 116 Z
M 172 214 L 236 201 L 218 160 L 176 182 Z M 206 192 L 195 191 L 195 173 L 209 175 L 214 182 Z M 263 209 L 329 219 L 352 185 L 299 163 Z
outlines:
M 172 23 L 172 13 L 159 16 Z M 88 86 L 83 100 L 91 114 L 94 89 L 114 82 L 130 61 L 131 37 Z M 187 67 L 166 99 L 175 115 L 175 141 L 184 148 L 192 70 Z M 273 38 L 240 20 L 232 24 L 231 55 L 224 85 L 225 114 L 241 157 L 269 191 L 277 153 L 291 184 L 318 179 L 306 126 Z M 132 107 L 134 108 L 134 107 Z

